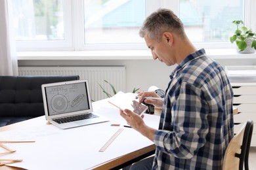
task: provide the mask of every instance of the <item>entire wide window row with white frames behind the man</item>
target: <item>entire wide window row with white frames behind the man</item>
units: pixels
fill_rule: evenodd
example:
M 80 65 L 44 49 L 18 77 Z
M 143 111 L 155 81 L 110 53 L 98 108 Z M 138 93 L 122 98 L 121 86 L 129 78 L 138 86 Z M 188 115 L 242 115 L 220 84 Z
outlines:
M 191 41 L 231 46 L 233 20 L 255 23 L 253 0 L 11 0 L 18 50 L 146 49 L 139 28 L 160 7 L 173 10 Z M 246 10 L 245 10 L 246 9 Z M 245 12 L 246 11 L 246 12 Z M 251 25 L 249 25 L 251 27 Z M 256 29 L 256 25 L 252 25 Z M 224 45 L 223 45 L 224 44 Z

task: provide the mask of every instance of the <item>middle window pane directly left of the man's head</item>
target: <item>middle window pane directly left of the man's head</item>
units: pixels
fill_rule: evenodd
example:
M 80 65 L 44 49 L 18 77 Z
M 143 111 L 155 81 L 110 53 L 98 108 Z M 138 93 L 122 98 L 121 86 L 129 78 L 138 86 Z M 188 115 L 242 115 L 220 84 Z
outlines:
M 139 28 L 145 18 L 144 0 L 85 0 L 85 45 L 143 42 Z

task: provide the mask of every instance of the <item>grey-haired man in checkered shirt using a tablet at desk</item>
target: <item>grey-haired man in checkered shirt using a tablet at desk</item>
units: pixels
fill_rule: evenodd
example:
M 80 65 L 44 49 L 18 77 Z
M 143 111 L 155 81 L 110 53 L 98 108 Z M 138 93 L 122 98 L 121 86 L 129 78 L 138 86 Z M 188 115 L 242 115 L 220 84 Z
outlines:
M 139 103 L 162 108 L 159 129 L 120 110 L 127 124 L 156 144 L 156 154 L 135 163 L 131 169 L 222 169 L 223 157 L 234 136 L 232 87 L 223 67 L 196 50 L 177 16 L 159 9 L 146 18 L 140 29 L 154 59 L 177 64 L 170 75 L 164 101 L 154 92 L 140 92 Z

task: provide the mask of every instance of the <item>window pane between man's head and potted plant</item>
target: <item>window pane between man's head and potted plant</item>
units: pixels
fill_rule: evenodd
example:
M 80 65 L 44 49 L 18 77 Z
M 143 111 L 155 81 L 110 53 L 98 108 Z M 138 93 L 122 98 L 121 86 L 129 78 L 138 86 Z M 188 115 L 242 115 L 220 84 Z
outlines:
M 244 0 L 180 0 L 180 18 L 193 42 L 229 41 L 234 20 L 244 20 Z

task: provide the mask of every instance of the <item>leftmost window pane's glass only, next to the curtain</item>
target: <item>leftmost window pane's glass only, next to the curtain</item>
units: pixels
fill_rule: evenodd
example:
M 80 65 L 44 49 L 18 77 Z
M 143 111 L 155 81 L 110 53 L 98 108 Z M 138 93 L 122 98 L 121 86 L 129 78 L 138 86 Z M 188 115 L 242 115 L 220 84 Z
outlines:
M 63 40 L 62 0 L 11 0 L 16 40 Z

